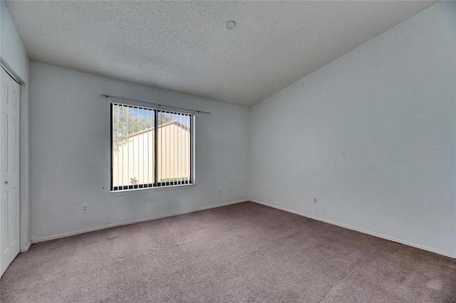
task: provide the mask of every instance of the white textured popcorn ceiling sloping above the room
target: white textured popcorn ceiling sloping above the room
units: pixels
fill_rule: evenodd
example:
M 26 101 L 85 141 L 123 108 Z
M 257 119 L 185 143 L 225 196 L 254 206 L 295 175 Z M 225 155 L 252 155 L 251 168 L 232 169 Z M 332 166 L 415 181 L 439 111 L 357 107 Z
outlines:
M 6 6 L 31 60 L 251 106 L 433 3 L 6 1 Z M 231 31 L 225 28 L 228 20 L 237 25 Z

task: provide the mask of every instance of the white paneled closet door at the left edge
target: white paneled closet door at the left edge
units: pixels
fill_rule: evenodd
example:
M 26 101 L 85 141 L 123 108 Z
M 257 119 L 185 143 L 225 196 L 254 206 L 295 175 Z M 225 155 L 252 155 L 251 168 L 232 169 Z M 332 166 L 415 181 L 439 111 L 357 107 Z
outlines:
M 1 69 L 0 277 L 19 254 L 19 83 Z

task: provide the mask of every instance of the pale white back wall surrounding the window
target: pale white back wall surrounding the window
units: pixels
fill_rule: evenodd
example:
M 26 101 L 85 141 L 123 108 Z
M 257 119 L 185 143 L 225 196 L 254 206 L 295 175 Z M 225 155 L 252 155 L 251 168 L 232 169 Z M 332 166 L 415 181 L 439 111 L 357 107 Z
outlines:
M 100 94 L 210 112 L 195 117 L 197 184 L 112 196 L 110 105 Z M 246 200 L 248 115 L 247 107 L 32 62 L 32 239 Z

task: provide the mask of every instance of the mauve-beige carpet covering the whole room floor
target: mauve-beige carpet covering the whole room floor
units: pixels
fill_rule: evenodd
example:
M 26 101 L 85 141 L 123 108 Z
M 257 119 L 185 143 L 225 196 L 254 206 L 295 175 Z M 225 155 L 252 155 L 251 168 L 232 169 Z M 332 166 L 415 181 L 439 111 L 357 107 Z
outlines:
M 32 245 L 1 302 L 456 302 L 456 260 L 246 202 Z

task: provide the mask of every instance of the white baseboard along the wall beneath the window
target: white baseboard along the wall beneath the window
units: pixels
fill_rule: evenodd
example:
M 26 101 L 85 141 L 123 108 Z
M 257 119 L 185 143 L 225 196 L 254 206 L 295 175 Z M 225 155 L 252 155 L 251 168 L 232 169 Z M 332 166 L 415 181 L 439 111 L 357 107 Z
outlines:
M 70 233 L 61 233 L 61 234 L 58 234 L 58 235 L 50 235 L 50 236 L 44 237 L 44 238 L 32 239 L 31 243 L 39 243 L 39 242 L 44 242 L 44 241 L 48 241 L 48 240 L 55 240 L 55 239 L 59 239 L 59 238 L 70 237 L 71 235 L 80 235 L 81 233 L 89 233 L 90 231 L 102 230 L 102 229 L 106 229 L 106 228 L 113 228 L 113 227 L 116 227 L 116 226 L 128 225 L 128 224 L 133 224 L 133 223 L 140 223 L 140 222 L 145 222 L 145 221 L 149 221 L 149 220 L 167 218 L 167 217 L 171 217 L 171 216 L 178 216 L 178 215 L 183 215 L 185 213 L 195 213 L 195 211 L 204 211 L 204 210 L 207 210 L 207 209 L 210 209 L 210 208 L 217 208 L 217 207 L 227 206 L 227 205 L 231 205 L 231 204 L 246 202 L 246 201 L 249 201 L 249 200 L 232 201 L 232 202 L 228 202 L 228 203 L 217 204 L 217 205 L 214 205 L 214 206 L 207 206 L 207 207 L 203 207 L 203 208 L 197 208 L 197 209 L 192 210 L 192 211 L 182 211 L 182 212 L 177 212 L 177 213 L 167 213 L 166 215 L 163 215 L 163 216 L 143 218 L 143 219 L 139 219 L 139 220 L 132 220 L 132 221 L 127 221 L 127 222 L 122 222 L 122 223 L 114 223 L 114 224 L 110 224 L 110 225 L 103 225 L 103 226 L 99 226 L 99 227 L 96 227 L 96 228 L 88 228 L 88 229 L 84 229 L 84 230 L 76 230 L 76 231 L 72 231 Z M 28 250 L 28 248 L 30 248 L 30 245 L 28 245 L 27 250 Z

